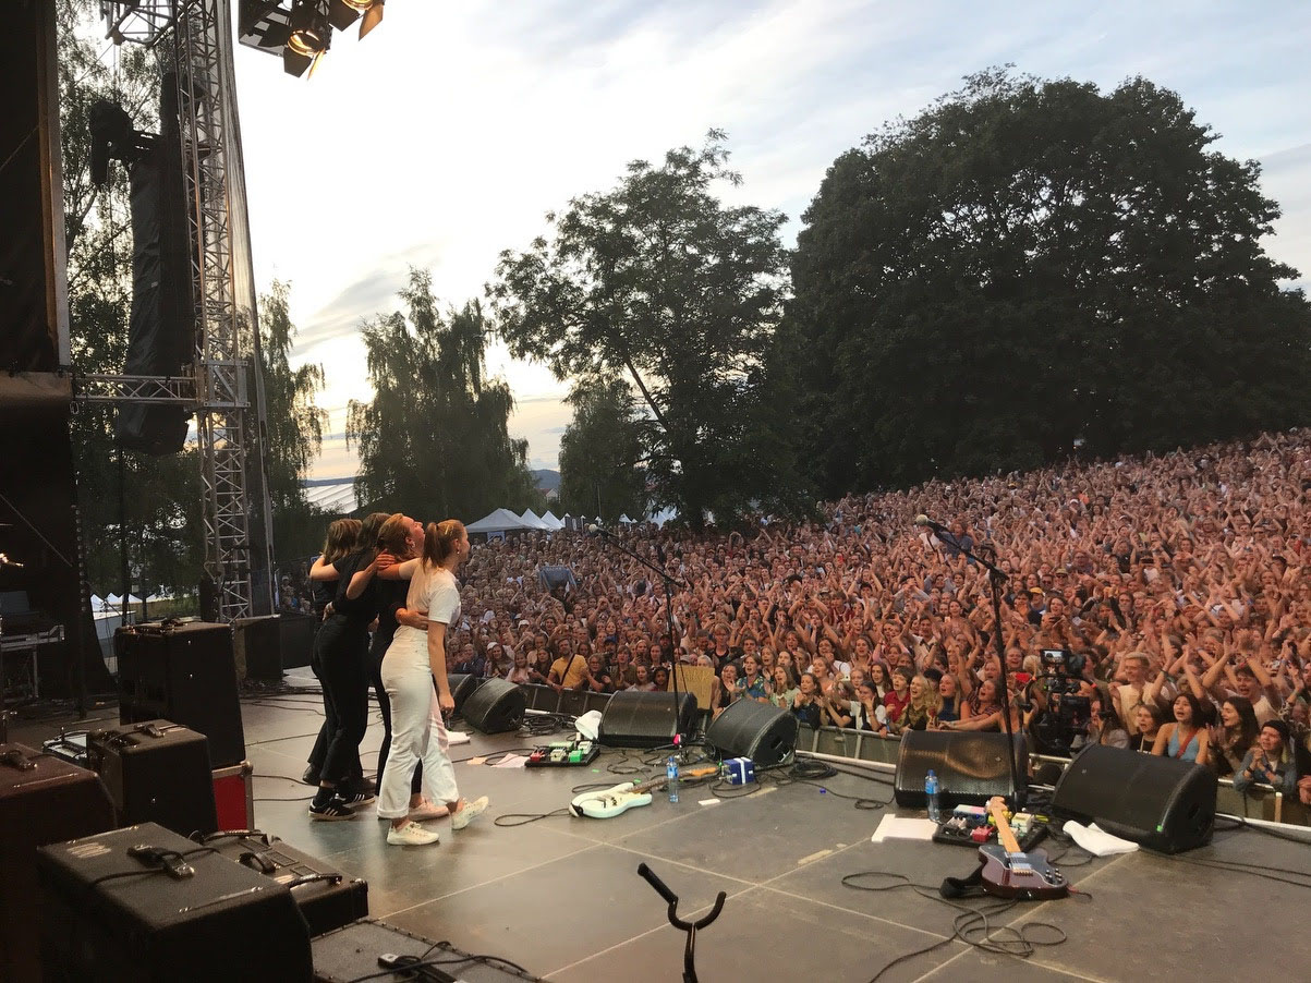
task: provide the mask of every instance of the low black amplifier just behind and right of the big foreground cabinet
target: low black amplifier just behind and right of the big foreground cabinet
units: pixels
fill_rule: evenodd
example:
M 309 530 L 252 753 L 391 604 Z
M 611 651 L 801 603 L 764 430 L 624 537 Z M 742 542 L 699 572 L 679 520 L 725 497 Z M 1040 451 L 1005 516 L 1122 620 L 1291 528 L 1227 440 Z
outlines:
M 291 891 L 311 936 L 368 917 L 368 882 L 346 877 L 332 864 L 302 853 L 258 830 L 216 832 L 203 845 L 273 878 Z

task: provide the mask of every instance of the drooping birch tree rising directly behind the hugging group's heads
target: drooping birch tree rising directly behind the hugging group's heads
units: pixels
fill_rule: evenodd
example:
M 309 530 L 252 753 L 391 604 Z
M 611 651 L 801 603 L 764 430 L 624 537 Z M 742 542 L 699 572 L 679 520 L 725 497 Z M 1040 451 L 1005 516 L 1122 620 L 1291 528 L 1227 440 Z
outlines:
M 486 324 L 471 301 L 438 313 L 433 278 L 410 270 L 408 317 L 363 328 L 370 402 L 351 401 L 346 440 L 359 448 L 361 505 L 440 519 L 479 519 L 505 506 L 543 509 L 528 442 L 510 436 L 510 387 L 486 377 Z

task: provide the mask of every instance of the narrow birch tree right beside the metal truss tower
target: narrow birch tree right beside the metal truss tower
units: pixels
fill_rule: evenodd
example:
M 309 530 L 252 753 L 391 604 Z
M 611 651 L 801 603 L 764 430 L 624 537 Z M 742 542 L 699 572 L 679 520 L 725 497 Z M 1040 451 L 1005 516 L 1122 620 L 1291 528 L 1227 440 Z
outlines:
M 305 498 L 302 484 L 323 448 L 328 414 L 315 402 L 324 387 L 317 363 L 291 367 L 288 355 L 296 337 L 287 308 L 290 287 L 274 280 L 260 298 L 260 354 L 267 410 L 265 478 L 273 503 L 273 553 L 291 560 L 309 556 L 323 541 L 326 520 Z

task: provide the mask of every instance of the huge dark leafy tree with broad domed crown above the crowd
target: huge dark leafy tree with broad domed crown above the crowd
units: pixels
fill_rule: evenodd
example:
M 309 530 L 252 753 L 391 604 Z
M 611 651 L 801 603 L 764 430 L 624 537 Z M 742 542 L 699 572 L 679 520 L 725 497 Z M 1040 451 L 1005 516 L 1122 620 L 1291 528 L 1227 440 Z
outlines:
M 829 494 L 1307 421 L 1256 163 L 1173 92 L 990 71 L 842 155 L 781 338 Z

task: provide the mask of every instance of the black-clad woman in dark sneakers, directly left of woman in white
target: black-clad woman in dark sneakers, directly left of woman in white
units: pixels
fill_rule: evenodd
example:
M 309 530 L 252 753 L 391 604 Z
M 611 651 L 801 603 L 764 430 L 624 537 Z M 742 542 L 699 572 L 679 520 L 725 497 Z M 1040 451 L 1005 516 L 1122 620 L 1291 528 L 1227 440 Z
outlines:
M 336 579 L 332 613 L 315 636 L 319 679 L 324 688 L 325 750 L 319 769 L 319 792 L 309 803 L 311 819 L 350 819 L 353 806 L 374 801 L 374 790 L 363 781 L 359 742 L 368 729 L 368 625 L 378 616 L 376 585 L 355 598 L 346 595 L 351 577 L 370 566 L 378 556 L 378 533 L 391 516 L 370 514 L 361 527 L 358 548 L 330 565 L 333 574 L 316 562 L 313 579 Z M 311 760 L 313 764 L 313 760 Z

